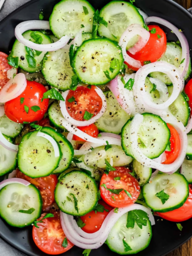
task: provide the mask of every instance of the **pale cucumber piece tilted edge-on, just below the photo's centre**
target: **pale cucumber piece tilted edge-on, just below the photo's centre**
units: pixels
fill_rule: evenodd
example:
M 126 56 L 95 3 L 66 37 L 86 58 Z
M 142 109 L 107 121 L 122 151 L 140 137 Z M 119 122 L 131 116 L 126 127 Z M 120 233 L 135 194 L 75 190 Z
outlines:
M 106 159 L 112 166 L 124 166 L 132 161 L 130 156 L 125 155 L 121 146 L 111 145 L 105 150 L 105 146 L 94 148 L 91 152 L 84 155 L 84 163 L 88 166 L 106 168 Z

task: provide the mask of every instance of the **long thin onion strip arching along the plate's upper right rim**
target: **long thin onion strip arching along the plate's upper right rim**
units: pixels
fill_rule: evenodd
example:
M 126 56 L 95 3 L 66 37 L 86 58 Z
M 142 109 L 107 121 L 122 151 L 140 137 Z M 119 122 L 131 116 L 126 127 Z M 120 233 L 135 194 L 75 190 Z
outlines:
M 189 46 L 188 46 L 187 39 L 184 36 L 184 34 L 182 33 L 182 31 L 180 31 L 176 26 L 174 26 L 173 24 L 171 24 L 170 22 L 168 22 L 167 20 L 165 20 L 163 18 L 152 16 L 152 17 L 147 17 L 145 19 L 145 21 L 146 22 L 156 22 L 161 25 L 164 25 L 164 26 L 168 27 L 170 30 L 172 30 L 174 32 L 174 34 L 178 37 L 178 40 L 180 41 L 181 48 L 182 48 L 181 60 L 184 59 L 183 63 L 181 63 L 179 65 L 178 69 L 179 69 L 180 75 L 182 77 L 184 77 L 188 70 L 190 53 L 189 53 Z

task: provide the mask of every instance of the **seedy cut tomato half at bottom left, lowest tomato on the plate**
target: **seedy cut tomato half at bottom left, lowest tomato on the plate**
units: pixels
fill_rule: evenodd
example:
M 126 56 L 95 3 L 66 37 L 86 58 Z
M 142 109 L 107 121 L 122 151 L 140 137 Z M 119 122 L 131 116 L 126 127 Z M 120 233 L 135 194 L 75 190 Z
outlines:
M 46 213 L 43 213 L 40 218 L 41 220 Z M 67 247 L 62 247 L 62 242 L 66 235 L 62 230 L 60 218 L 57 213 L 54 213 L 54 217 L 44 218 L 43 222 L 37 222 L 39 228 L 33 226 L 32 238 L 36 246 L 43 252 L 51 255 L 61 254 L 70 248 L 73 244 L 67 239 Z

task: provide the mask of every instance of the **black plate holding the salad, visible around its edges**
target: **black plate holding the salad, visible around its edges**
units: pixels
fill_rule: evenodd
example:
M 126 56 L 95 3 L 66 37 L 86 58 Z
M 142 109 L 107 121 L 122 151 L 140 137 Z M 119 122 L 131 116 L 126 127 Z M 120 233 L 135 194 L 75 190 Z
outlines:
M 110 0 L 89 0 L 95 7 L 100 9 Z M 39 10 L 43 9 L 45 19 L 51 13 L 51 10 L 58 0 L 31 0 L 19 9 L 15 10 L 4 20 L 0 22 L 0 51 L 6 53 L 12 47 L 14 41 L 14 28 L 24 20 L 38 19 Z M 184 31 L 187 37 L 189 47 L 192 48 L 192 16 L 180 5 L 172 0 L 136 0 L 136 6 L 145 11 L 149 16 L 159 16 L 167 19 Z M 166 29 L 165 29 L 166 30 Z M 168 40 L 176 39 L 174 34 L 167 33 Z M 162 256 L 175 249 L 192 236 L 192 219 L 182 222 L 182 232 L 176 226 L 176 223 L 162 220 L 155 217 L 156 224 L 152 227 L 152 239 L 150 245 L 138 256 Z M 47 254 L 40 251 L 32 240 L 31 227 L 13 228 L 0 219 L 0 236 L 14 247 L 22 250 L 31 256 L 45 256 Z M 81 255 L 82 249 L 74 246 L 69 251 L 63 253 L 65 256 Z M 116 253 L 110 251 L 107 245 L 103 245 L 96 250 L 91 251 L 91 256 L 115 256 Z

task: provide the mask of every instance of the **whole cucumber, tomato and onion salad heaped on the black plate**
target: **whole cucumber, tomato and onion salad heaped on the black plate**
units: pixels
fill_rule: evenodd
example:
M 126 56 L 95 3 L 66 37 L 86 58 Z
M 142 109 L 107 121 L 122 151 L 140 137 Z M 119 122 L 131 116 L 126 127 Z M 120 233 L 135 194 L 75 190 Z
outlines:
M 47 254 L 134 254 L 154 214 L 192 217 L 189 46 L 133 3 L 61 0 L 0 52 L 0 216 Z

